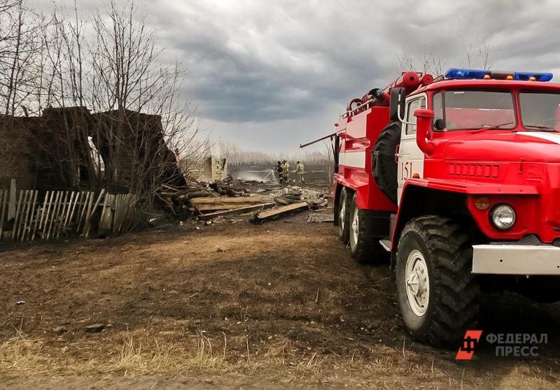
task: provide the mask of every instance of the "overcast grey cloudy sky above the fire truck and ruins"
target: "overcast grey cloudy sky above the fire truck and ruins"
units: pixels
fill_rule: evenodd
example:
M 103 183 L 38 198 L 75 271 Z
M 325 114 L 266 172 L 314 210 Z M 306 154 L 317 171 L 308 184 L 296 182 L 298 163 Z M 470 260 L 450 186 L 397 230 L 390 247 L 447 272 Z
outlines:
M 86 16 L 104 4 L 77 1 Z M 398 76 L 403 54 L 460 67 L 470 48 L 489 44 L 492 68 L 552 71 L 560 80 L 555 0 L 136 4 L 166 58 L 187 68 L 183 96 L 199 109 L 202 127 L 247 150 L 297 152 L 332 132 L 351 98 Z

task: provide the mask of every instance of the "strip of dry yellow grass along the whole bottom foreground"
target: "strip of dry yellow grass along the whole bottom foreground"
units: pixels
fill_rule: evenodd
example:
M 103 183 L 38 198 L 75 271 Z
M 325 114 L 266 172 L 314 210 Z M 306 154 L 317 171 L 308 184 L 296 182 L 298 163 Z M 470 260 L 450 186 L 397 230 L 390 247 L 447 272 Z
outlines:
M 120 338 L 120 343 L 113 338 Z M 461 388 L 467 384 L 471 388 L 494 381 L 498 387 L 530 384 L 552 388 L 558 380 L 550 373 L 528 372 L 522 365 L 515 366 L 505 377 L 494 378 L 492 373 L 472 377 L 468 372 L 454 373 L 438 364 L 434 367 L 433 361 L 419 363 L 422 356 L 407 352 L 405 357 L 402 350 L 389 347 L 379 347 L 375 351 L 378 357 L 364 357 L 356 352 L 349 356 L 309 350 L 302 353 L 292 340 L 284 337 L 270 340 L 254 352 L 251 352 L 248 338 L 244 338 L 244 342 L 249 354 L 230 349 L 228 338 L 214 341 L 202 331 L 182 337 L 180 341 L 136 331 L 99 340 L 92 344 L 94 350 L 85 354 L 82 347 L 80 355 L 72 347 L 53 349 L 45 345 L 44 340 L 26 337 L 17 330 L 13 338 L 0 345 L 0 374 L 6 379 L 18 380 L 47 375 L 260 375 L 279 382 L 314 385 L 335 384 L 340 376 L 350 374 L 360 378 L 363 385 L 374 383 L 388 388 L 404 384 L 410 376 L 426 387 L 440 388 Z M 120 349 L 111 349 L 110 345 L 120 345 Z M 88 354 L 96 357 L 89 359 Z

